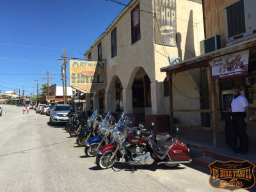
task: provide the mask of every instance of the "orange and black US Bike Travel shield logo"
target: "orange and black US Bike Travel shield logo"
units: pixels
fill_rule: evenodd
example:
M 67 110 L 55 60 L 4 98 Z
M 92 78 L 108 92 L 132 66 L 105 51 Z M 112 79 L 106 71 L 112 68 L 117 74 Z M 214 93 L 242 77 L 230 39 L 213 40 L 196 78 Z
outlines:
M 234 191 L 252 188 L 255 184 L 253 175 L 255 165 L 249 161 L 215 161 L 209 164 L 209 167 L 211 168 L 209 183 L 213 188 Z

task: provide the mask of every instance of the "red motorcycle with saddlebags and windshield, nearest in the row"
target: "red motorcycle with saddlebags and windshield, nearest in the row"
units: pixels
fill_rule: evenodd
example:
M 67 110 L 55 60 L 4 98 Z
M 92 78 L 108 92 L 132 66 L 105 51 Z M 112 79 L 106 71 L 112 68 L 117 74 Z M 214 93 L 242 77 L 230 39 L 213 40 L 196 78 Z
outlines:
M 141 125 L 133 125 L 134 115 L 123 113 L 112 134 L 117 145 L 104 145 L 98 150 L 96 164 L 100 169 L 111 168 L 120 159 L 122 163 L 125 160 L 132 165 L 156 163 L 170 167 L 192 161 L 186 144 L 180 143 L 177 138 L 168 133 L 152 135 L 154 123 L 150 131 L 144 130 Z

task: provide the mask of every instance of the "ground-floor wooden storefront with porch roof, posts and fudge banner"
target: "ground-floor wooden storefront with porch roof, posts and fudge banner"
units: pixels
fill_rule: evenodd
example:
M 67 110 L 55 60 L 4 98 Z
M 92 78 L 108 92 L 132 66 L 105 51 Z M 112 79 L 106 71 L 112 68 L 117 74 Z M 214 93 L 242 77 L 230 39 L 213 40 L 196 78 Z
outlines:
M 206 94 L 209 95 L 209 109 L 173 109 L 172 76 L 193 68 L 204 68 L 207 71 L 207 87 L 203 87 L 203 90 L 208 90 Z M 218 132 L 225 131 L 225 116 L 230 108 L 233 97 L 232 86 L 238 84 L 242 88 L 241 93 L 246 96 L 250 105 L 252 121 L 248 122 L 246 131 L 249 136 L 256 138 L 256 39 L 209 52 L 191 60 L 182 61 L 176 65 L 163 67 L 161 72 L 166 72 L 167 79 L 169 80 L 171 123 L 173 122 L 173 112 L 209 113 L 211 117 L 211 125 L 209 127 L 179 126 L 212 131 L 213 145 L 217 147 L 217 134 Z

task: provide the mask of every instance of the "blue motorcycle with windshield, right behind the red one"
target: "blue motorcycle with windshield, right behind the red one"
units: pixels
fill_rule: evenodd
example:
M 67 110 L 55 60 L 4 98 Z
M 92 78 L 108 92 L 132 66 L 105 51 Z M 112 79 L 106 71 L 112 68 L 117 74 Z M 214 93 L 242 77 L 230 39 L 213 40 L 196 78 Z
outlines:
M 111 143 L 111 132 L 113 131 L 113 128 L 115 127 L 115 118 L 113 115 L 111 115 L 110 111 L 104 118 L 102 124 L 99 124 L 99 135 L 93 138 L 90 138 L 90 140 L 86 141 L 86 146 L 84 147 L 84 154 L 88 157 L 94 157 L 97 156 L 98 152 L 97 150 L 102 145 L 108 145 Z

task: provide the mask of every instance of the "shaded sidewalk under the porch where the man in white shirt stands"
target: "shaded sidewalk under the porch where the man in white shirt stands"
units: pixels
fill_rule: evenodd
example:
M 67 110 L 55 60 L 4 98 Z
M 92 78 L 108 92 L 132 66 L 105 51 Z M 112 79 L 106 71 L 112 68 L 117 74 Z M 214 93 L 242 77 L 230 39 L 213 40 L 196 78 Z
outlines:
M 205 131 L 200 129 L 191 129 L 179 127 L 178 140 L 186 143 L 191 149 L 191 153 L 194 156 L 200 156 L 198 150 L 211 150 L 219 154 L 225 154 L 227 156 L 234 157 L 236 159 L 248 160 L 252 163 L 256 163 L 256 139 L 249 137 L 249 152 L 248 154 L 235 154 L 226 143 L 225 134 L 218 134 L 218 147 L 213 147 L 213 136 L 211 131 Z M 197 149 L 197 150 L 196 150 Z M 195 154 L 196 153 L 196 154 Z M 201 154 L 202 155 L 202 154 Z M 192 156 L 192 158 L 194 158 Z

